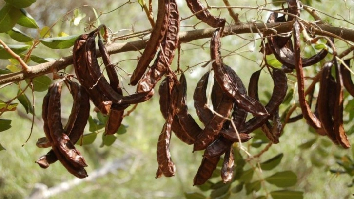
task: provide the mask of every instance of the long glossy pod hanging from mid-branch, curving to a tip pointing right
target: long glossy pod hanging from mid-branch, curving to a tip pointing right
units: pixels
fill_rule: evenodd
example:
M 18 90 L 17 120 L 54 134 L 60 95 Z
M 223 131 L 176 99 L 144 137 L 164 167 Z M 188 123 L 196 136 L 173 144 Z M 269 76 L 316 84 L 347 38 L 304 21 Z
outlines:
M 227 72 L 227 66 L 222 62 L 220 55 L 220 28 L 217 28 L 212 36 L 210 44 L 211 59 L 214 60 L 212 67 L 215 73 L 216 81 L 220 84 L 222 90 L 234 98 L 237 104 L 255 115 L 268 115 L 267 110 L 257 100 L 241 94 L 238 91 L 237 82 L 233 82 L 230 74 Z

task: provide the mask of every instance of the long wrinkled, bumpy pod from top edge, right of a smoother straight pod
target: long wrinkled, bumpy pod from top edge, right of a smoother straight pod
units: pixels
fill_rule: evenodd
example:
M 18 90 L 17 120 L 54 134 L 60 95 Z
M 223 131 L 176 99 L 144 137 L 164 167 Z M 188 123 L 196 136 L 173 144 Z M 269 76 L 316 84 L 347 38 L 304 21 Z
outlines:
M 161 50 L 157 54 L 154 64 L 146 75 L 142 77 L 137 86 L 137 92 L 146 92 L 155 87 L 162 76 L 170 69 L 170 64 L 175 56 L 179 37 L 179 12 L 175 0 L 169 0 L 170 14 L 168 16 L 168 29 L 161 42 Z

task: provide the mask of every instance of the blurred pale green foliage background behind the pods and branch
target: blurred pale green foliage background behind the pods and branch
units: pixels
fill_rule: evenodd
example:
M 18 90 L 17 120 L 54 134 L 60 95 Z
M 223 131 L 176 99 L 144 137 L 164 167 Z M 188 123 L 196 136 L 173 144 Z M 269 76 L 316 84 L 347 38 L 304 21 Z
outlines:
M 147 1 L 147 0 L 146 0 Z M 146 18 L 145 12 L 142 11 L 140 5 L 136 1 L 134 3 L 127 3 L 123 5 L 125 0 L 104 0 L 104 1 L 89 1 L 89 0 L 37 0 L 36 3 L 26 8 L 26 11 L 32 15 L 37 21 L 40 28 L 44 26 L 51 26 L 57 20 L 58 22 L 53 27 L 51 34 L 56 37 L 60 32 L 65 32 L 68 35 L 82 34 L 86 30 L 87 24 L 95 20 L 94 8 L 98 14 L 100 12 L 107 13 L 100 16 L 99 20 L 105 24 L 115 33 L 115 36 L 125 35 L 131 33 L 131 30 L 142 31 L 150 28 L 150 24 Z M 191 15 L 184 0 L 177 0 L 181 17 L 186 18 Z M 0 1 L 0 7 L 4 5 L 4 1 Z M 209 1 L 213 5 L 223 6 L 222 1 Z M 234 1 L 230 0 L 232 5 L 237 6 L 257 6 L 264 4 L 263 0 L 255 1 Z M 340 14 L 348 21 L 354 21 L 353 17 L 353 0 L 321 0 L 321 2 L 307 1 L 312 3 L 312 6 L 325 12 L 326 14 L 340 18 Z M 83 5 L 88 5 L 81 7 Z M 119 6 L 123 5 L 117 10 Z M 69 13 L 63 18 L 65 13 L 79 7 L 81 14 L 85 17 L 81 20 L 78 26 L 71 23 L 73 13 Z M 153 1 L 154 14 L 157 14 L 157 0 Z M 275 8 L 273 5 L 267 5 L 267 8 Z M 112 11 L 108 13 L 109 11 Z M 215 15 L 221 14 L 227 18 L 228 22 L 231 18 L 228 16 L 227 10 L 211 10 Z M 263 21 L 265 22 L 269 12 L 258 12 L 257 10 L 249 9 L 235 9 L 236 13 L 240 14 L 240 20 L 243 22 Z M 312 20 L 306 12 L 302 12 L 303 19 Z M 341 20 L 334 20 L 323 14 L 321 17 L 335 26 L 345 26 L 353 28 L 354 26 L 345 23 Z M 199 21 L 192 17 L 188 20 L 183 20 L 181 23 L 181 31 L 193 30 L 192 26 L 196 25 Z M 16 26 L 17 27 L 17 26 Z M 206 28 L 207 25 L 198 23 L 195 28 Z M 22 31 L 36 37 L 36 29 L 26 29 L 18 27 Z M 89 31 L 89 30 L 88 30 Z M 7 41 L 8 44 L 15 42 L 11 40 L 5 33 L 0 34 L 1 39 Z M 224 59 L 224 62 L 233 67 L 237 74 L 241 77 L 246 86 L 250 75 L 256 71 L 262 59 L 262 54 L 258 52 L 260 40 L 257 34 L 243 34 L 238 36 L 228 36 L 222 39 L 222 54 L 227 54 L 229 51 L 236 52 L 231 56 Z M 247 39 L 247 40 L 244 40 Z M 137 40 L 134 38 L 133 40 Z M 210 65 L 206 68 L 201 68 L 199 64 L 202 61 L 210 59 L 209 55 L 209 39 L 195 40 L 190 43 L 182 44 L 180 64 L 183 70 L 188 69 L 187 66 L 194 66 L 186 71 L 188 79 L 188 107 L 189 111 L 196 119 L 197 116 L 194 111 L 192 95 L 201 74 L 204 74 Z M 116 42 L 126 42 L 125 40 L 118 40 Z M 241 46 L 244 46 L 240 48 Z M 205 47 L 205 48 L 204 48 Z M 338 43 L 337 48 L 339 52 L 345 49 L 345 45 Z M 239 49 L 238 49 L 239 48 Z M 71 54 L 71 48 L 63 50 L 48 50 L 49 48 L 39 45 L 32 55 L 37 55 L 46 58 L 60 58 Z M 307 49 L 305 53 L 313 53 L 311 49 Z M 176 54 L 177 55 L 177 54 Z M 136 58 L 139 56 L 138 52 L 126 52 L 112 55 L 111 59 L 114 62 L 119 62 L 118 72 L 122 77 L 122 84 L 126 87 L 128 92 L 134 92 L 135 88 L 128 86 L 129 77 L 137 63 Z M 177 68 L 177 57 L 174 60 L 173 68 Z M 7 60 L 0 60 L 0 67 L 5 68 L 9 62 Z M 199 64 L 195 66 L 196 64 Z M 30 62 L 29 65 L 36 65 Z M 319 66 L 307 69 L 309 73 L 318 71 Z M 124 70 L 121 70 L 124 69 Z M 73 74 L 72 66 L 66 68 L 65 72 Z M 51 76 L 51 75 L 50 75 Z M 295 77 L 289 76 L 289 90 L 294 88 Z M 271 82 L 271 83 L 269 83 Z M 158 85 L 157 85 L 158 86 Z M 272 92 L 272 81 L 270 81 L 268 74 L 264 72 L 261 75 L 259 83 L 260 98 L 266 101 L 269 94 Z M 32 94 L 29 90 L 25 92 L 27 96 L 31 97 Z M 29 196 L 34 189 L 36 183 L 45 184 L 48 187 L 58 185 L 61 182 L 73 180 L 75 177 L 70 175 L 64 167 L 55 163 L 48 169 L 41 169 L 34 162 L 43 154 L 47 153 L 47 149 L 40 149 L 36 147 L 37 138 L 43 137 L 42 130 L 43 122 L 41 119 L 41 105 L 42 98 L 46 92 L 35 93 L 35 125 L 33 134 L 25 146 L 21 145 L 27 139 L 32 115 L 26 114 L 22 106 L 18 106 L 15 112 L 6 112 L 1 118 L 11 119 L 12 128 L 0 133 L 0 143 L 6 149 L 0 152 L 0 198 L 4 199 L 18 199 Z M 7 86 L 0 91 L 0 98 L 11 99 L 17 94 L 17 86 Z M 65 96 L 65 97 L 64 97 Z M 30 98 L 31 99 L 31 98 Z M 66 91 L 62 97 L 62 116 L 68 117 L 71 109 L 71 96 Z M 289 100 L 288 104 L 295 103 L 294 99 Z M 348 105 L 349 104 L 349 105 Z M 347 97 L 346 104 L 348 113 L 353 113 L 353 98 Z M 66 108 L 64 108 L 66 107 Z M 282 105 L 281 108 L 286 108 Z M 280 114 L 282 111 L 280 111 Z M 352 114 L 353 115 L 353 114 Z M 19 117 L 20 116 L 20 117 Z M 97 114 L 91 112 L 91 116 L 97 119 Z M 349 134 L 351 143 L 353 139 L 353 124 L 350 122 L 350 116 L 347 116 L 347 124 L 345 129 Z M 63 119 L 63 122 L 65 119 Z M 156 160 L 156 147 L 157 138 L 164 123 L 164 119 L 159 112 L 158 93 L 149 101 L 139 104 L 134 112 L 123 120 L 123 124 L 127 126 L 127 132 L 122 135 L 117 135 L 117 140 L 111 146 L 100 147 L 102 143 L 102 130 L 97 135 L 97 139 L 93 144 L 84 145 L 79 147 L 79 151 L 85 157 L 88 167 L 87 171 L 90 175 L 95 169 L 101 168 L 108 162 L 118 161 L 122 167 L 119 167 L 114 172 L 97 178 L 93 181 L 83 182 L 77 186 L 71 186 L 69 190 L 58 193 L 53 196 L 56 198 L 182 198 L 185 193 L 200 192 L 208 196 L 210 190 L 207 192 L 201 191 L 197 187 L 193 187 L 193 177 L 197 172 L 200 161 L 202 159 L 201 152 L 192 153 L 192 146 L 182 143 L 179 139 L 172 136 L 170 151 L 172 159 L 176 164 L 176 176 L 172 178 L 155 179 L 155 172 L 157 170 Z M 89 133 L 89 125 L 85 133 Z M 255 147 L 256 144 L 251 146 L 251 143 L 257 141 L 257 136 L 245 143 L 249 153 L 256 155 L 259 153 L 266 144 L 262 144 L 259 148 Z M 258 140 L 259 141 L 259 140 Z M 310 141 L 310 142 L 309 142 Z M 246 158 L 244 152 L 240 152 L 243 158 Z M 270 171 L 260 172 L 257 169 L 257 163 L 263 162 L 283 153 L 283 158 L 280 164 L 275 169 Z M 265 152 L 259 159 L 254 159 L 246 163 L 244 170 L 254 168 L 256 174 L 252 181 L 257 179 L 264 179 L 275 172 L 293 171 L 297 175 L 297 183 L 292 186 L 291 190 L 304 192 L 305 199 L 330 199 L 330 198 L 351 198 L 354 193 L 353 187 L 348 187 L 351 184 L 352 175 L 347 172 L 344 175 L 339 175 L 338 171 L 343 171 L 343 166 L 338 164 L 341 161 L 342 165 L 347 164 L 347 171 L 353 170 L 354 163 L 350 162 L 354 159 L 353 146 L 352 149 L 343 150 L 335 146 L 328 138 L 317 136 L 311 132 L 308 125 L 301 120 L 296 123 L 286 125 L 283 135 L 280 138 L 280 143 L 272 145 L 272 147 Z M 330 172 L 333 170 L 333 173 Z M 352 170 L 350 170 L 352 169 Z M 219 177 L 211 179 L 212 182 L 219 181 Z M 233 183 L 230 190 L 232 190 L 237 183 Z M 234 189 L 235 190 L 235 189 Z M 277 190 L 274 185 L 262 183 L 261 190 L 257 193 L 246 195 L 245 188 L 239 193 L 231 193 L 232 198 L 251 199 L 259 195 L 264 195 L 270 191 Z

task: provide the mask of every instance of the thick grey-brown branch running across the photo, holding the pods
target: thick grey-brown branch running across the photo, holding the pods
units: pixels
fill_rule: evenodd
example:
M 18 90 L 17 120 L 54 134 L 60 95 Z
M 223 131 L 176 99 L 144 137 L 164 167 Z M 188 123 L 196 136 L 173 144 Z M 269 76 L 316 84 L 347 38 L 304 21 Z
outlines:
M 277 33 L 285 33 L 291 31 L 293 28 L 293 22 L 285 23 L 240 23 L 232 26 L 225 27 L 225 35 L 233 34 L 244 34 L 244 33 L 257 33 L 257 30 L 263 32 L 264 34 L 270 34 L 274 31 Z M 199 29 L 187 32 L 179 33 L 180 42 L 188 43 L 193 40 L 210 38 L 214 32 L 214 28 Z M 325 24 L 316 25 L 312 29 L 317 35 L 323 36 L 336 36 L 337 38 L 342 38 L 347 41 L 354 42 L 354 30 L 348 28 L 333 27 Z M 228 34 L 230 33 L 230 34 Z M 127 51 L 137 51 L 145 48 L 147 40 L 138 40 L 127 43 L 114 43 L 107 46 L 107 51 L 109 54 L 117 54 Z M 100 53 L 97 52 L 98 56 Z M 50 61 L 42 64 L 38 64 L 31 67 L 30 71 L 20 71 L 16 73 L 10 73 L 5 75 L 0 75 L 0 85 L 16 82 L 20 80 L 30 79 L 38 77 L 40 75 L 48 74 L 51 72 L 59 71 L 65 67 L 73 64 L 73 57 L 68 56 L 60 58 L 55 61 Z

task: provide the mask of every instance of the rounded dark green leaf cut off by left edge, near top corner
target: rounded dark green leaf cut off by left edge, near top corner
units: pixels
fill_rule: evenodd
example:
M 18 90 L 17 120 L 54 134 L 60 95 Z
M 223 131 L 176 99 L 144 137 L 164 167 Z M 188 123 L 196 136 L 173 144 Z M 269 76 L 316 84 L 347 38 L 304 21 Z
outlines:
M 0 10 L 0 33 L 11 30 L 20 19 L 21 11 L 11 4 L 6 3 Z M 1 53 L 0 53 L 1 55 Z

